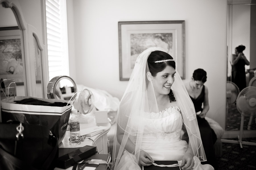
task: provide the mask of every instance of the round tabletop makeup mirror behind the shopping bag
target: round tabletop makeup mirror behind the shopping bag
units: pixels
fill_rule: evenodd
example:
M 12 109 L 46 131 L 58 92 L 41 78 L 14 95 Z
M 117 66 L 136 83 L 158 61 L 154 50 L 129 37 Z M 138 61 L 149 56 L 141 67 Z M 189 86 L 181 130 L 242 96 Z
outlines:
M 66 75 L 53 77 L 47 85 L 47 98 L 69 100 L 77 93 L 75 81 Z M 76 97 L 73 97 L 73 99 Z

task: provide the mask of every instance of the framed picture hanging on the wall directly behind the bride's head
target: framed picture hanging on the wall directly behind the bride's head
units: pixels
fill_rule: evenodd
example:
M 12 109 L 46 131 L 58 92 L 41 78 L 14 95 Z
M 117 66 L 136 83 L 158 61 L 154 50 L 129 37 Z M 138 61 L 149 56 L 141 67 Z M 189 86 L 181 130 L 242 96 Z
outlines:
M 135 61 L 149 47 L 162 47 L 170 54 L 185 79 L 185 21 L 118 22 L 120 80 L 129 80 Z

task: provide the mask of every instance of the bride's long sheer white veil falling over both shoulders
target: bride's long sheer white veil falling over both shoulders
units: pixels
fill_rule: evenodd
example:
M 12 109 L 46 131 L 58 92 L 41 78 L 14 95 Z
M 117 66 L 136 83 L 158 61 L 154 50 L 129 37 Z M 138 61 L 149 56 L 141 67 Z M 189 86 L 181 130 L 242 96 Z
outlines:
M 152 51 L 165 52 L 160 47 L 151 47 L 138 56 L 125 93 L 121 98 L 116 118 L 117 128 L 115 129 L 113 143 L 112 169 L 115 169 L 119 163 L 127 140 L 131 140 L 135 145 L 135 150 L 132 154 L 135 156 L 135 163 L 138 164 L 143 132 L 146 131 L 145 121 L 142 121 L 142 117 L 146 113 L 159 112 L 152 81 L 149 81 L 146 76 L 146 73 L 149 72 L 147 59 Z M 197 124 L 195 108 L 177 70 L 172 90 L 176 95 L 194 155 L 199 160 L 205 161 L 206 157 Z M 117 132 L 124 134 L 121 145 L 117 141 Z

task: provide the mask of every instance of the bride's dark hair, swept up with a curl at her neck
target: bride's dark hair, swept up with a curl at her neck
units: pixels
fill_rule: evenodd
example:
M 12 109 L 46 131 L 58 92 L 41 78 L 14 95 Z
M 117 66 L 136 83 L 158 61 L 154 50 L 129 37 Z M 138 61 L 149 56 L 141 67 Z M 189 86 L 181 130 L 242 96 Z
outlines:
M 171 66 L 172 68 L 175 67 L 175 61 L 166 61 L 166 62 L 158 62 L 155 63 L 155 61 L 160 61 L 160 60 L 168 60 L 168 59 L 173 59 L 172 56 L 166 52 L 163 51 L 153 51 L 149 56 L 148 56 L 148 69 L 153 77 L 156 76 L 157 73 L 162 72 L 166 66 Z M 175 101 L 174 94 L 172 92 L 172 89 L 170 90 L 170 93 L 168 94 L 170 97 L 170 102 Z

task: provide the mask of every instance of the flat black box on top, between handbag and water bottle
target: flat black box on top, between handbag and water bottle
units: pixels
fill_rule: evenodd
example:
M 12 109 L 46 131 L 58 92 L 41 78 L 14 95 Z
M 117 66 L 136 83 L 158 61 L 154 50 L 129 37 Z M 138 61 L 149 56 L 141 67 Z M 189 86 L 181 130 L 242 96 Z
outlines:
M 74 163 L 82 161 L 96 154 L 95 146 L 84 146 L 80 148 L 59 148 L 59 158 L 55 161 L 55 166 L 67 169 Z

